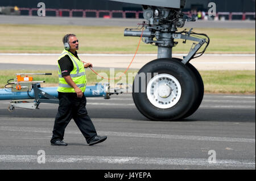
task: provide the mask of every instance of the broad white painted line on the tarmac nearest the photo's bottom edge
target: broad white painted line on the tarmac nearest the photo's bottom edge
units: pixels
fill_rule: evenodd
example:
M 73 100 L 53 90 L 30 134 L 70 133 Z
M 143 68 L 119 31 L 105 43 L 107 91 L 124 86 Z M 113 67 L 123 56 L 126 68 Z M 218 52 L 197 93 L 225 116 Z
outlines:
M 0 162 L 38 163 L 38 155 L 0 154 Z M 149 157 L 103 157 L 89 155 L 46 155 L 46 163 L 108 163 L 108 164 L 139 164 L 139 165 L 188 165 L 204 167 L 247 167 L 254 168 L 255 161 L 217 159 L 209 163 L 207 158 L 149 158 Z

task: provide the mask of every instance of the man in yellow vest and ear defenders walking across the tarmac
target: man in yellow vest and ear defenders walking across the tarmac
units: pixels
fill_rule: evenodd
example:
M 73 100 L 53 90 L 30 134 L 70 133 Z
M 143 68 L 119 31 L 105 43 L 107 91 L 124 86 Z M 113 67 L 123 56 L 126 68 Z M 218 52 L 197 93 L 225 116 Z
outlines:
M 64 51 L 61 53 L 59 64 L 59 108 L 52 131 L 51 145 L 67 146 L 63 141 L 65 128 L 71 119 L 84 135 L 86 142 L 91 146 L 106 140 L 106 136 L 98 136 L 96 129 L 88 116 L 86 98 L 85 68 L 93 65 L 82 62 L 77 56 L 79 40 L 76 35 L 68 34 L 63 37 Z

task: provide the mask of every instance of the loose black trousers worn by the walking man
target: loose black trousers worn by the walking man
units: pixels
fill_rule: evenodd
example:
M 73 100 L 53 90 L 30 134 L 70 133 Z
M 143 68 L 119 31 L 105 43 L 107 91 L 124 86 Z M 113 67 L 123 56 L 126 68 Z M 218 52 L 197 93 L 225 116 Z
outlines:
M 60 103 L 58 113 L 55 117 L 51 142 L 63 140 L 65 128 L 73 118 L 82 135 L 84 135 L 86 142 L 89 143 L 97 133 L 85 108 L 85 96 L 83 95 L 82 98 L 77 98 L 76 93 L 58 93 Z

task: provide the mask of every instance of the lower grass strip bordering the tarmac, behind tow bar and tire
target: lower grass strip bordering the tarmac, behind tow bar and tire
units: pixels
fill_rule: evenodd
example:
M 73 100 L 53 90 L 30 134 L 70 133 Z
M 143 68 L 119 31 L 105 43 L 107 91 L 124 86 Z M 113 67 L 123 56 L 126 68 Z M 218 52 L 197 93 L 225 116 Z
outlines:
M 124 70 L 115 70 L 115 76 L 119 77 L 117 73 L 122 73 Z M 116 83 L 130 83 L 128 82 L 128 74 L 137 73 L 138 70 L 129 70 L 126 73 L 126 81 L 124 79 L 118 79 Z M 97 70 L 98 73 L 106 73 L 110 77 L 109 70 Z M 6 82 L 15 78 L 16 73 L 28 73 L 24 70 L 1 70 L 0 71 L 0 88 L 2 89 Z M 30 73 L 52 73 L 53 75 L 36 75 L 34 76 L 35 81 L 46 81 L 42 84 L 42 87 L 57 86 L 59 78 L 57 71 L 48 70 L 34 70 Z M 205 92 L 207 93 L 223 93 L 223 94 L 255 94 L 255 71 L 253 70 L 221 70 L 221 71 L 200 71 L 205 85 Z M 88 85 L 95 85 L 97 82 L 108 83 L 108 80 L 102 81 L 97 79 L 96 74 L 91 70 L 86 71 Z M 113 78 L 113 77 L 111 77 Z

